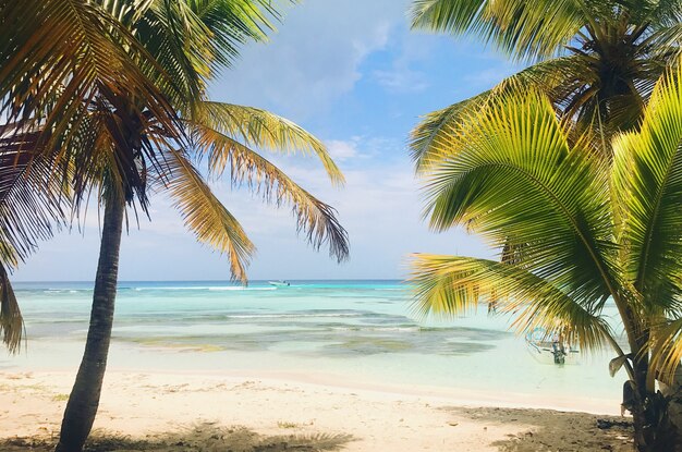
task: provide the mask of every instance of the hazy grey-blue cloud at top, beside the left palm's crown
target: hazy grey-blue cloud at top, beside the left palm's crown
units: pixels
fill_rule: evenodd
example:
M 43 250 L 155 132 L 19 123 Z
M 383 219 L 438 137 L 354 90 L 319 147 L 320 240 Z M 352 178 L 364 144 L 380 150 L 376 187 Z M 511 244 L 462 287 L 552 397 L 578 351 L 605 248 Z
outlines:
M 211 97 L 302 121 L 329 108 L 363 77 L 362 62 L 404 22 L 404 1 L 308 0 L 289 10 L 267 45 L 249 45 Z

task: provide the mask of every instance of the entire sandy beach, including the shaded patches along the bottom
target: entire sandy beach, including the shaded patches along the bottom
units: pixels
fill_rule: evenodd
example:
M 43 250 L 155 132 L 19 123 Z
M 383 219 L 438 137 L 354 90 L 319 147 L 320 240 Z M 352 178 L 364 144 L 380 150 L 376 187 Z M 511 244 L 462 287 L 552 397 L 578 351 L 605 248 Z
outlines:
M 312 382 L 318 377 L 112 370 L 89 450 L 631 450 L 621 425 L 629 418 L 522 408 L 523 401 L 503 393 L 483 398 L 456 390 Z M 64 371 L 1 372 L 2 450 L 49 450 L 72 381 Z M 613 414 L 612 408 L 596 413 Z M 600 429 L 597 419 L 614 426 Z

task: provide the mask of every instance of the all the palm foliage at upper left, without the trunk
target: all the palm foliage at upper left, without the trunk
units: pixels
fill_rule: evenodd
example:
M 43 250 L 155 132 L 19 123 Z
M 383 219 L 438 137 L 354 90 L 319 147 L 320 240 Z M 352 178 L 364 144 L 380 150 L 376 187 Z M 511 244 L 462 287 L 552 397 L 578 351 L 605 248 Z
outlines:
M 227 255 L 246 281 L 255 247 L 197 170 L 277 205 L 318 248 L 348 256 L 336 211 L 258 151 L 313 155 L 333 183 L 343 175 L 325 146 L 267 111 L 210 102 L 206 86 L 242 45 L 265 40 L 279 15 L 269 0 L 0 1 L 0 265 L 15 266 L 96 197 L 148 213 L 149 187 L 167 191 L 197 240 Z M 5 278 L 0 332 L 16 350 L 19 306 Z M 5 296 L 7 295 L 7 296 Z

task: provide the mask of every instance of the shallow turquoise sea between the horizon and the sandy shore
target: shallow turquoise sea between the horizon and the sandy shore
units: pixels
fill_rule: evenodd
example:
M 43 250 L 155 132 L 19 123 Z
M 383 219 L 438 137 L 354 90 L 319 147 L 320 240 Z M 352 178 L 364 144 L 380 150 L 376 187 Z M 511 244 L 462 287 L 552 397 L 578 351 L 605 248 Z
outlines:
M 456 319 L 419 319 L 400 281 L 119 285 L 110 366 L 120 368 L 327 372 L 387 384 L 503 390 L 548 403 L 557 394 L 580 394 L 614 406 L 624 378 L 609 377 L 608 353 L 553 365 L 508 330 L 509 319 L 489 317 L 485 308 Z M 15 290 L 28 347 L 0 358 L 0 368 L 77 366 L 74 344 L 85 339 L 92 284 L 16 283 Z

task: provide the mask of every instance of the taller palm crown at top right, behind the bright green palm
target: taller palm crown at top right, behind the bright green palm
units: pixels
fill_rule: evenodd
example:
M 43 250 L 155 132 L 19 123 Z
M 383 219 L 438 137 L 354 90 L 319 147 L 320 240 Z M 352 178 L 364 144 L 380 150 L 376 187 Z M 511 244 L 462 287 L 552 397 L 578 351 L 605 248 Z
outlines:
M 438 160 L 436 142 L 449 129 L 510 88 L 547 94 L 579 135 L 596 129 L 595 139 L 610 154 L 611 136 L 636 130 L 682 39 L 680 0 L 414 0 L 411 16 L 413 28 L 472 33 L 533 63 L 488 91 L 427 114 L 412 135 L 417 170 Z

